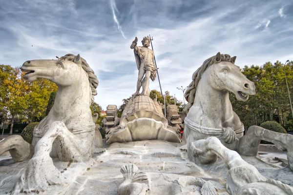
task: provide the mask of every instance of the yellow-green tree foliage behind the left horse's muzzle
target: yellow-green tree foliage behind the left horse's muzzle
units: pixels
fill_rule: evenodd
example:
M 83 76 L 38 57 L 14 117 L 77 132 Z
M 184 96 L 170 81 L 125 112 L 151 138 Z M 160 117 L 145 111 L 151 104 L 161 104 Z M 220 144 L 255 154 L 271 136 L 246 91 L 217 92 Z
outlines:
M 23 75 L 19 67 L 0 65 L 0 118 L 10 119 L 11 132 L 15 121 L 40 121 L 51 92 L 57 91 L 47 79 L 27 82 Z

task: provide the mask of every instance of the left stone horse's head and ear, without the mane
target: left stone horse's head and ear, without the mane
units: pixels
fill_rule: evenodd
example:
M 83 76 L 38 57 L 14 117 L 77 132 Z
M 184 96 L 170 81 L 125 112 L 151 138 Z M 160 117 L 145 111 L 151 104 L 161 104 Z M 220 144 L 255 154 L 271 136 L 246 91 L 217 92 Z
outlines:
M 21 71 L 27 72 L 23 78 L 34 81 L 37 78 L 47 78 L 58 86 L 69 86 L 79 80 L 78 72 L 82 69 L 82 60 L 77 55 L 73 61 L 59 59 L 36 59 L 25 61 Z

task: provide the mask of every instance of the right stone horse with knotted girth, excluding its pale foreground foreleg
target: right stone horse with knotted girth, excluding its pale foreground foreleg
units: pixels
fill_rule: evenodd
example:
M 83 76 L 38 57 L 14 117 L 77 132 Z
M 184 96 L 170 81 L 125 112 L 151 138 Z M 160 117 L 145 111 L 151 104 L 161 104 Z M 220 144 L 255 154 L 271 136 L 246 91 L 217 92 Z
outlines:
M 260 140 L 287 149 L 289 167 L 293 170 L 293 135 L 281 134 L 251 126 L 243 136 L 244 126 L 233 111 L 229 91 L 237 100 L 246 101 L 255 94 L 254 83 L 247 79 L 235 63 L 236 57 L 217 53 L 204 61 L 192 75 L 192 82 L 185 93 L 188 105 L 185 112 L 184 139 L 188 157 L 194 160 L 191 143 L 208 137 L 217 137 L 224 146 L 245 156 L 256 156 Z M 210 158 L 213 162 L 216 158 Z

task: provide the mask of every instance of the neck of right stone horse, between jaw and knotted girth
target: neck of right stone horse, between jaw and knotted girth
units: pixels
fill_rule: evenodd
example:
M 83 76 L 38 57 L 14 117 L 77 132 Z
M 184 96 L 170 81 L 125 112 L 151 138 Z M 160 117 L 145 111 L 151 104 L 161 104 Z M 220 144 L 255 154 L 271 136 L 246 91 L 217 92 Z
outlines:
M 203 75 L 198 83 L 193 106 L 199 109 L 196 112 L 201 113 L 208 120 L 208 126 L 220 128 L 227 126 L 234 119 L 229 92 L 212 88 L 207 77 L 208 74 Z

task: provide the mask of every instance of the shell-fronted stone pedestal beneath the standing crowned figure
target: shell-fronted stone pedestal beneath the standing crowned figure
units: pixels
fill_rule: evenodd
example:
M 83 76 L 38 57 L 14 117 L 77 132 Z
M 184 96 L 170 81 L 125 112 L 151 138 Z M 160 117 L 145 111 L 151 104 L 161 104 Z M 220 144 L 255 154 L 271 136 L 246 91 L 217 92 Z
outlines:
M 132 97 L 122 113 L 120 124 L 109 129 L 106 143 L 159 139 L 180 143 L 180 135 L 168 126 L 162 107 L 148 96 Z

